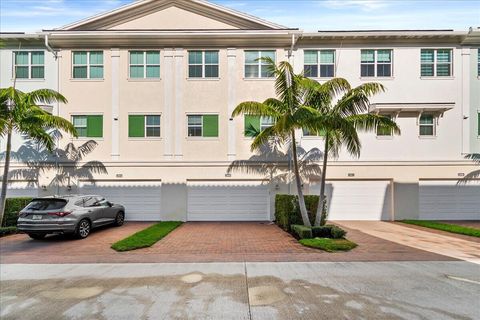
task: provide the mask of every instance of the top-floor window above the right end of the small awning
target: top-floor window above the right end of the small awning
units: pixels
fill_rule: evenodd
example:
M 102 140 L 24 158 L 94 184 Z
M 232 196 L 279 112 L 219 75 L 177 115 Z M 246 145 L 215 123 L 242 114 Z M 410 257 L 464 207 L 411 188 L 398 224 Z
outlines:
M 452 76 L 452 49 L 422 49 L 420 60 L 422 77 Z

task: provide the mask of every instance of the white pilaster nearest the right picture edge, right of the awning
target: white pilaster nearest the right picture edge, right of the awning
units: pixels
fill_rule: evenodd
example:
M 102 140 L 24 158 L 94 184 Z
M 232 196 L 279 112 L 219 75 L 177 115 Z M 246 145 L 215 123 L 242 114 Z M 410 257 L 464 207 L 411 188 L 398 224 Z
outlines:
M 461 68 L 460 76 L 461 86 L 460 90 L 460 101 L 462 104 L 462 154 L 470 153 L 470 117 L 473 116 L 470 114 L 470 48 L 461 49 Z M 455 71 L 454 71 L 455 72 Z

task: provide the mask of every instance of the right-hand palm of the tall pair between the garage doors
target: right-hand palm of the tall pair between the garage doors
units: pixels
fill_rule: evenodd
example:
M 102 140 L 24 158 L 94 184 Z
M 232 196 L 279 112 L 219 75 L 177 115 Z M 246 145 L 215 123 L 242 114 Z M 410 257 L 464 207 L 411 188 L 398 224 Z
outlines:
M 369 98 L 385 90 L 379 83 L 364 83 L 351 88 L 347 80 L 335 78 L 323 84 L 305 79 L 303 85 L 307 89 L 306 104 L 321 114 L 312 119 L 309 126 L 324 136 L 320 201 L 315 216 L 315 225 L 319 226 L 325 222 L 326 217 L 325 180 L 328 156 L 338 157 L 340 149 L 345 147 L 348 153 L 359 157 L 361 142 L 358 131 L 371 132 L 380 127 L 400 134 L 400 129 L 390 118 L 368 113 Z

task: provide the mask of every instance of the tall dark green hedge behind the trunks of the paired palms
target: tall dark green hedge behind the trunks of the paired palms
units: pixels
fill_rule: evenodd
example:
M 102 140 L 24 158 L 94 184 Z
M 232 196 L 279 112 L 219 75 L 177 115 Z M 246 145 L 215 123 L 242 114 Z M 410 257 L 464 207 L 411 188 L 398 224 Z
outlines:
M 307 207 L 310 223 L 315 222 L 315 214 L 319 196 L 305 196 L 305 206 Z M 291 194 L 277 194 L 275 197 L 275 223 L 283 230 L 290 232 L 291 225 L 302 225 L 302 215 L 298 197 Z

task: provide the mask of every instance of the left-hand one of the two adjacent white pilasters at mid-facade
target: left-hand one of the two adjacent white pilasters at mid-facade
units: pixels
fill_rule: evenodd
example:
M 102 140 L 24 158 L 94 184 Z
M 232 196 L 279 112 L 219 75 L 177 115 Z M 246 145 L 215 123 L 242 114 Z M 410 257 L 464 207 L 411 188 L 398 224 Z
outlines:
M 164 115 L 162 117 L 162 124 L 164 125 L 164 158 L 172 159 L 173 158 L 173 145 L 172 145 L 172 135 L 173 135 L 173 93 L 174 93 L 174 74 L 173 74 L 173 49 L 165 49 L 164 53 Z

